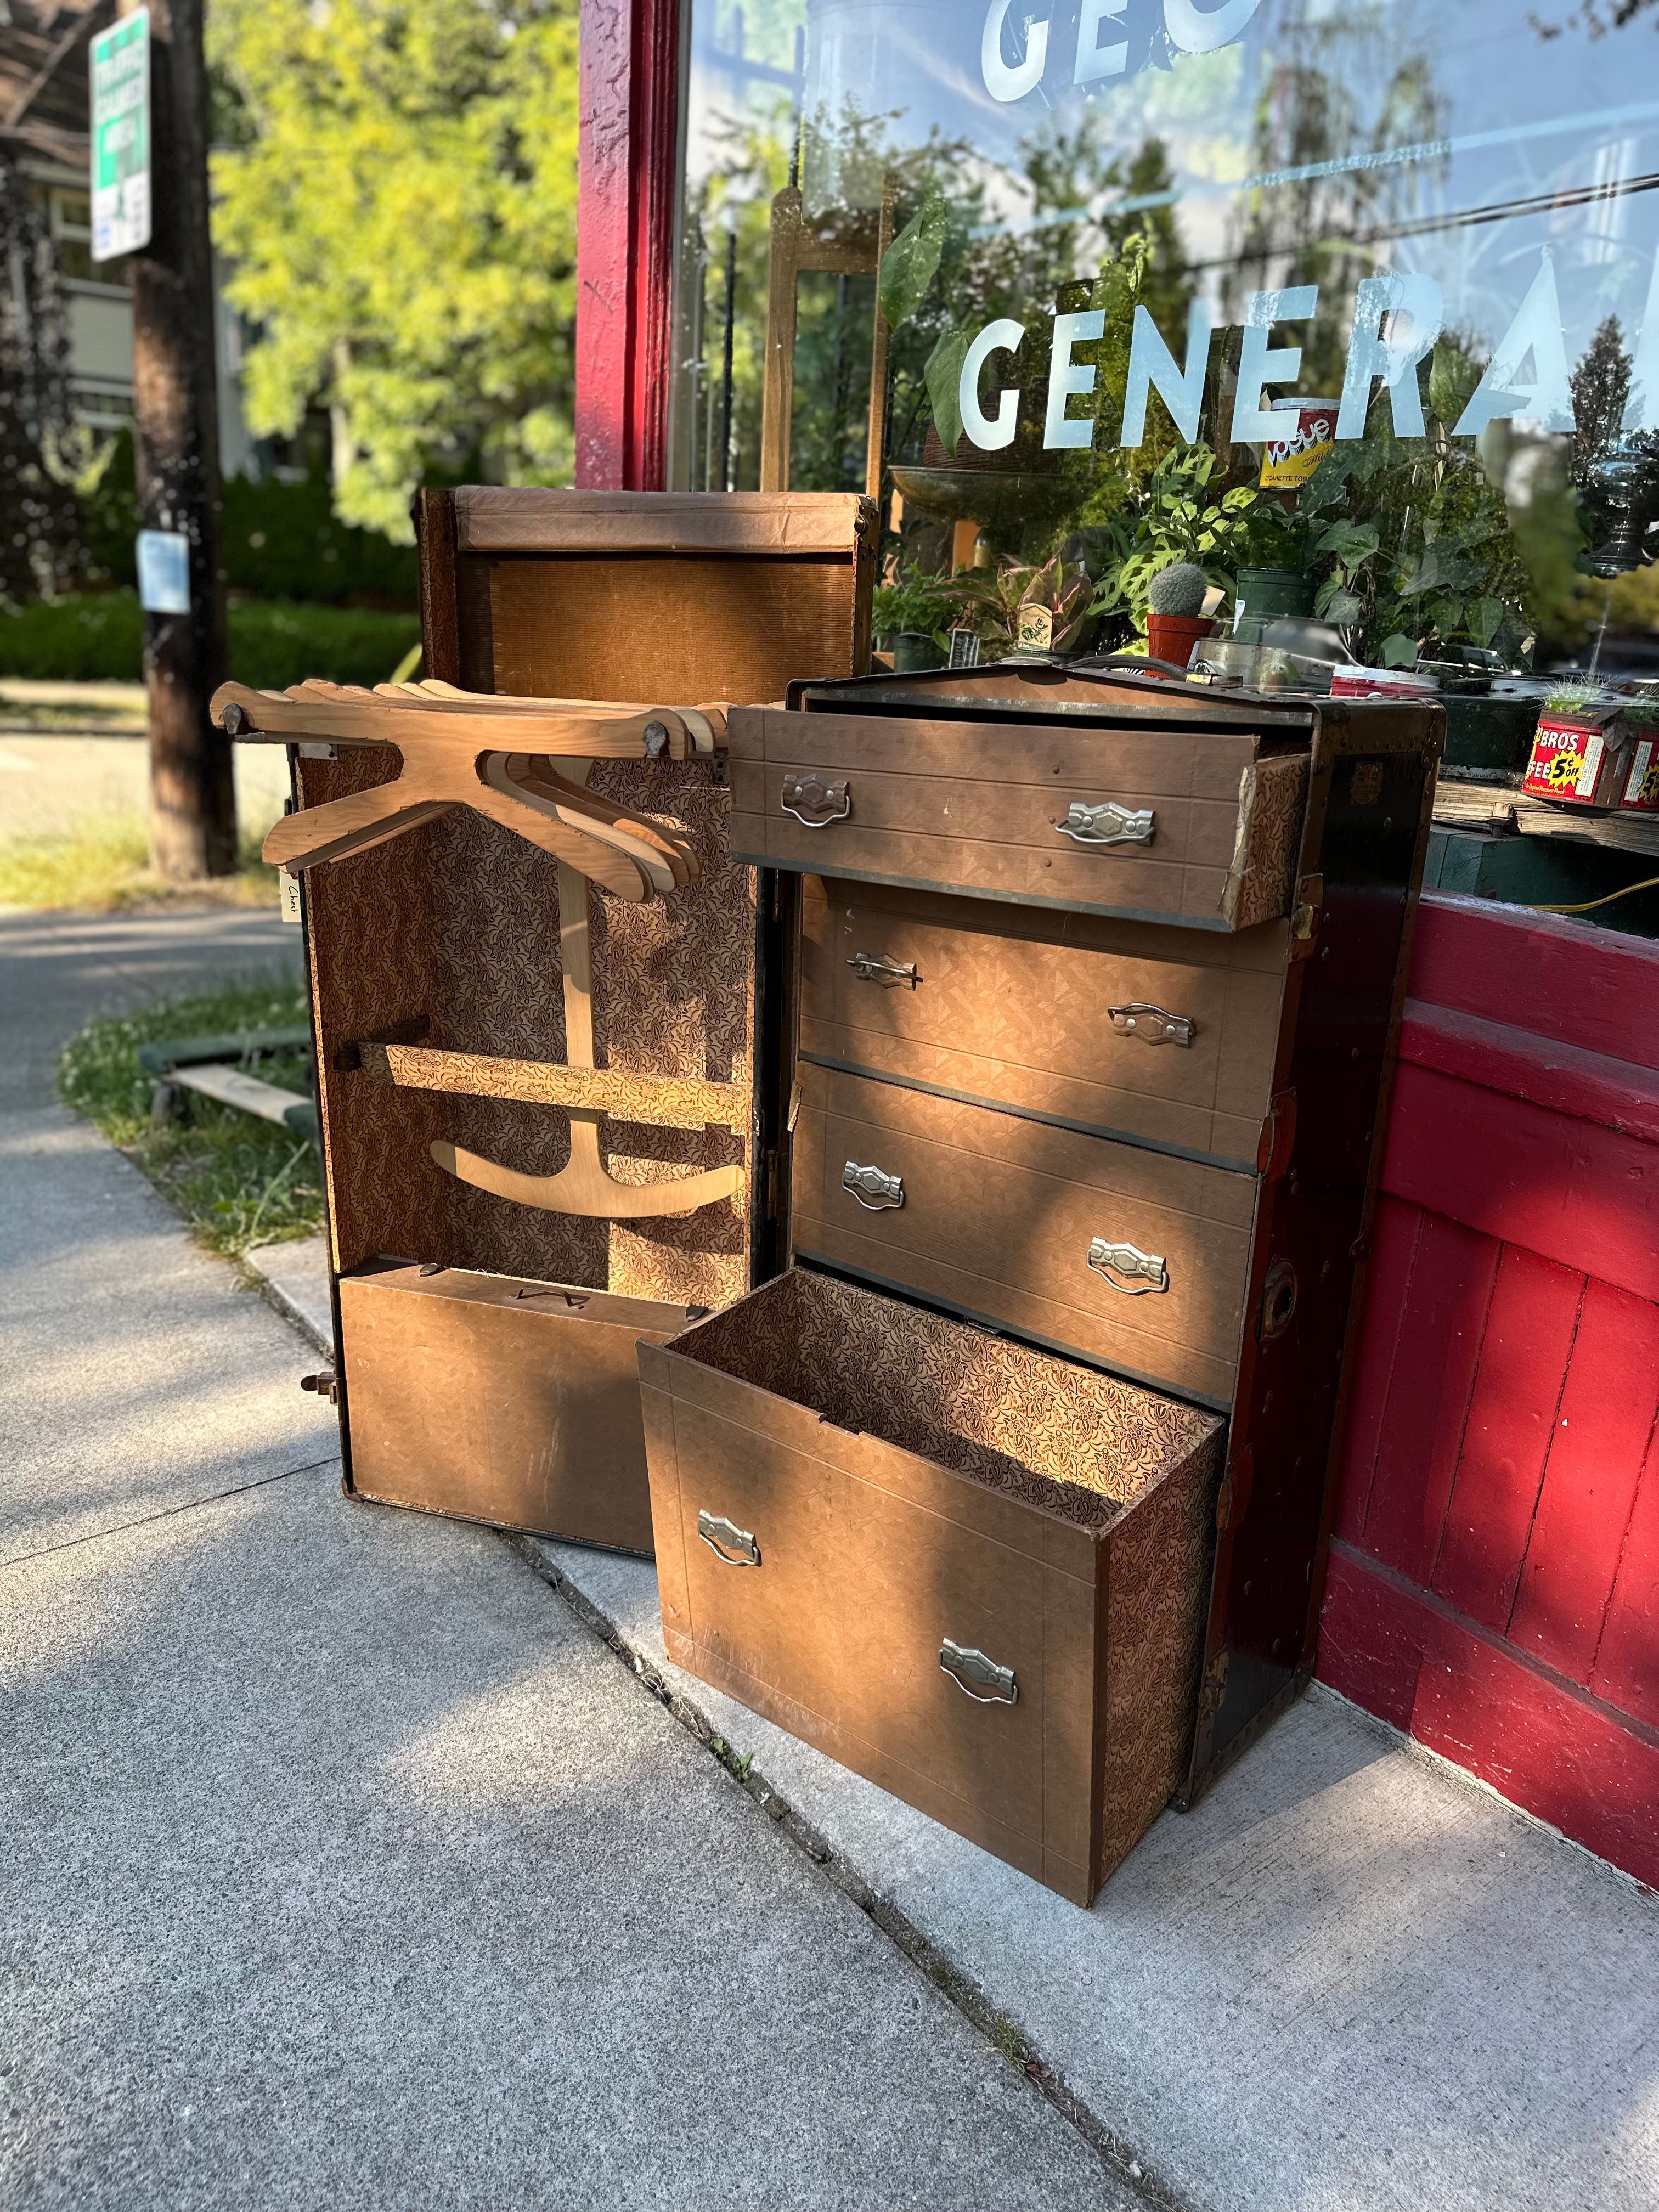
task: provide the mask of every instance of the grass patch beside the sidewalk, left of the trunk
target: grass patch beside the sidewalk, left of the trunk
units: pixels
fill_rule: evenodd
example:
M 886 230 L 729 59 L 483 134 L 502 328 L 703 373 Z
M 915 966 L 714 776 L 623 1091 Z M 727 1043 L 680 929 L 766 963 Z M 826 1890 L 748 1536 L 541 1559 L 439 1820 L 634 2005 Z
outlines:
M 234 1106 L 190 1099 L 190 1121 L 150 1121 L 155 1077 L 137 1064 L 139 1044 L 206 1037 L 223 1029 L 283 1029 L 305 1020 L 305 987 L 250 978 L 197 998 L 175 998 L 144 1013 L 88 1022 L 58 1060 L 58 1095 L 119 1146 L 168 1199 L 208 1252 L 241 1259 L 261 1243 L 310 1237 L 323 1225 L 323 1164 L 310 1139 Z M 310 1091 L 303 1053 L 250 1062 L 270 1084 Z

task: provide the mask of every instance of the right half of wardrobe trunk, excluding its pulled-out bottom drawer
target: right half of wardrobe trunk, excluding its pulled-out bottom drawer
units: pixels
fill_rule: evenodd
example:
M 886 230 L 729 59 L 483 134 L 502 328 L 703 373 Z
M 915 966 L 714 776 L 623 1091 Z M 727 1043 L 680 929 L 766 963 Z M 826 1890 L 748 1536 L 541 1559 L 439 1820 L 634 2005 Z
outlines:
M 1438 706 L 1042 664 L 730 726 L 734 849 L 779 872 L 779 1250 L 1225 1420 L 1181 1803 L 1312 1672 L 1440 737 Z M 774 1679 L 763 1582 L 703 1548 L 701 1668 Z

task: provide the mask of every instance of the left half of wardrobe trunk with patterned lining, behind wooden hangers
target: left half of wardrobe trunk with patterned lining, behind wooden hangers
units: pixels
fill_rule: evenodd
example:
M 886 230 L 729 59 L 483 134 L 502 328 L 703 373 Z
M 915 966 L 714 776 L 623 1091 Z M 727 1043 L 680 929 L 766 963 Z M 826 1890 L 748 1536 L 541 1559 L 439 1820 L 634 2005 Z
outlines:
M 425 679 L 458 688 L 438 706 L 719 708 L 867 659 L 874 511 L 852 495 L 462 489 L 422 493 L 416 524 Z M 695 854 L 666 896 L 608 896 L 465 803 L 303 876 L 358 1495 L 650 1548 L 633 1336 L 741 1296 L 763 1228 L 763 918 L 703 721 L 710 745 L 599 757 L 573 794 Z M 387 745 L 292 754 L 301 810 L 398 774 Z M 582 1121 L 615 1208 L 551 1192 Z M 692 1175 L 721 1194 L 639 1199 Z

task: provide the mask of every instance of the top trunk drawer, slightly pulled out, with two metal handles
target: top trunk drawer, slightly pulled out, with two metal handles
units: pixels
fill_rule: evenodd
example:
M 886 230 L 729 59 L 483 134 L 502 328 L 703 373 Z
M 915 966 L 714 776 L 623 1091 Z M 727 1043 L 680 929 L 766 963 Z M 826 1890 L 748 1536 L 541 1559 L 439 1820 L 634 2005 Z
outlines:
M 1307 752 L 1234 730 L 730 717 L 757 867 L 1248 929 L 1290 914 Z

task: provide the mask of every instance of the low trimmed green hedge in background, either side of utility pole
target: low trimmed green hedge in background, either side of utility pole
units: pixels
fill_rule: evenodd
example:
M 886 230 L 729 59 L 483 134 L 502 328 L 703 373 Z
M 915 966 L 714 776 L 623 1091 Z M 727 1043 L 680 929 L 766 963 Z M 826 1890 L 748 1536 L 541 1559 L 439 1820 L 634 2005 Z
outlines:
M 230 606 L 230 675 L 254 690 L 303 677 L 385 684 L 420 637 L 416 615 L 372 608 L 248 602 Z M 135 591 L 69 593 L 0 608 L 0 675 L 137 684 L 144 615 Z

